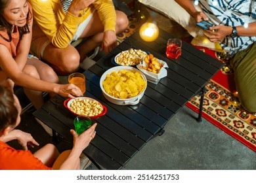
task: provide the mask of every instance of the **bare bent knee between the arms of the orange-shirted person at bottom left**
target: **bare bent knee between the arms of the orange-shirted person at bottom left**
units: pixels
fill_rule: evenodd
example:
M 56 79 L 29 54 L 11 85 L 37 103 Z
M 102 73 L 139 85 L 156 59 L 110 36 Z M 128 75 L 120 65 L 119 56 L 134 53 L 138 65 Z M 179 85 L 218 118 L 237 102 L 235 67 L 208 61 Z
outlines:
M 59 152 L 53 144 L 46 144 L 33 154 L 40 159 L 47 167 L 53 167 L 54 161 L 58 158 Z

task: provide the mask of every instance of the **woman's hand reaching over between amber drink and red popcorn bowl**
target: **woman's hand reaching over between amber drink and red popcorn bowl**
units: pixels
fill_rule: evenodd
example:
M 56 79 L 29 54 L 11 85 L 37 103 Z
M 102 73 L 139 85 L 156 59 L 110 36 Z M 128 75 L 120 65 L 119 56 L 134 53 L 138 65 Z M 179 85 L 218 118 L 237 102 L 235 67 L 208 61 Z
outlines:
M 56 88 L 54 88 L 55 93 L 62 95 L 63 97 L 70 97 L 74 99 L 75 96 L 82 96 L 83 93 L 81 92 L 80 88 L 75 86 L 74 84 L 58 84 Z M 72 95 L 72 94 L 74 95 Z

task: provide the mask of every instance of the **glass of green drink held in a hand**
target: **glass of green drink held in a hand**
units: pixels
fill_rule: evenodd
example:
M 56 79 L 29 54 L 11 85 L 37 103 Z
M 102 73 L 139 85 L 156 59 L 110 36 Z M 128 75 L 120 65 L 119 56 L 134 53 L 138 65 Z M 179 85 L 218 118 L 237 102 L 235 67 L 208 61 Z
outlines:
M 80 135 L 91 127 L 91 118 L 88 116 L 77 116 L 74 120 L 75 132 Z

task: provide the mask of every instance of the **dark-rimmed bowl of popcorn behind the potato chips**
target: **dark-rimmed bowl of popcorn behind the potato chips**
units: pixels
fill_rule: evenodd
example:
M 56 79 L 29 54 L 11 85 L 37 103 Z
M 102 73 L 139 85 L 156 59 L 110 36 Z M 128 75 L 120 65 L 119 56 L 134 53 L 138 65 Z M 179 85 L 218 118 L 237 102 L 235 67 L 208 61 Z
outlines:
M 124 65 L 124 66 L 134 66 L 138 65 L 140 61 L 147 56 L 146 52 L 142 50 L 136 50 L 130 48 L 129 50 L 125 50 L 120 52 L 114 58 L 114 65 Z M 112 62 L 113 63 L 113 62 Z

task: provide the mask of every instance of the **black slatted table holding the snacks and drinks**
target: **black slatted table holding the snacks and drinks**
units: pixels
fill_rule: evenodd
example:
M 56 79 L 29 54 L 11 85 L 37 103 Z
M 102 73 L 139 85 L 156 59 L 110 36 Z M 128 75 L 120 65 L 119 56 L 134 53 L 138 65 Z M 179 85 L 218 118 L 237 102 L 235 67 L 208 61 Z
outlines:
M 94 120 L 98 124 L 96 137 L 83 151 L 99 169 L 121 169 L 146 142 L 164 132 L 165 124 L 186 102 L 198 93 L 203 94 L 205 84 L 223 67 L 221 61 L 186 42 L 182 42 L 181 58 L 177 61 L 167 58 L 165 45 L 171 37 L 160 29 L 156 41 L 144 42 L 136 31 L 83 73 L 87 87 L 85 95 L 97 99 L 108 108 L 106 115 Z M 158 84 L 148 82 L 144 96 L 137 105 L 114 105 L 102 95 L 100 76 L 114 67 L 111 58 L 122 50 L 128 50 L 131 45 L 165 61 L 169 66 L 167 77 Z M 64 107 L 64 99 L 56 95 L 33 114 L 72 143 L 70 128 L 74 128 L 74 116 Z

